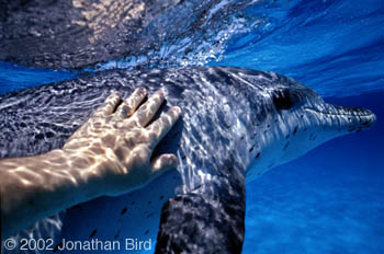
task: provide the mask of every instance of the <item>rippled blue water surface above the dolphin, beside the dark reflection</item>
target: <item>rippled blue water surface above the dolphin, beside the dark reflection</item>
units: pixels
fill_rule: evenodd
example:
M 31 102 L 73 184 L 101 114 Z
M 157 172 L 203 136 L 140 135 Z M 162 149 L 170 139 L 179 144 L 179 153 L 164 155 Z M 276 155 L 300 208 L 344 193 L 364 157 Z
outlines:
M 382 0 L 172 3 L 136 35 L 146 46 L 88 70 L 226 65 L 276 71 L 326 96 L 384 86 Z M 23 88 L 37 84 L 35 80 L 45 83 L 74 77 L 67 71 L 36 77 L 36 70 L 0 67 L 2 91 L 11 90 L 9 82 Z M 15 80 L 14 73 L 20 72 L 24 78 Z

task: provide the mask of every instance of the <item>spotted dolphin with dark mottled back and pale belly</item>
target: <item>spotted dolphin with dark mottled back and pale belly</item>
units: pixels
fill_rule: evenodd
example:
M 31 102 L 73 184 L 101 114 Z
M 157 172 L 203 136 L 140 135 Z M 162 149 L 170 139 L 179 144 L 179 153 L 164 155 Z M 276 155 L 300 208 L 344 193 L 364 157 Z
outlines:
M 181 198 L 167 203 L 167 209 L 183 210 L 179 203 L 188 199 L 183 195 L 196 194 L 196 199 L 187 201 L 201 200 L 206 205 L 203 210 L 211 209 L 211 217 L 201 218 L 188 209 L 183 215 L 187 212 L 190 221 L 199 217 L 199 223 L 211 223 L 213 231 L 204 232 L 210 241 L 196 238 L 202 240 L 201 249 L 196 249 L 183 245 L 181 238 L 178 247 L 215 252 L 223 251 L 215 249 L 223 243 L 227 249 L 222 253 L 239 252 L 244 178 L 252 181 L 329 139 L 366 129 L 375 122 L 375 115 L 368 109 L 327 104 L 313 90 L 272 72 L 228 67 L 110 70 L 0 95 L 0 157 L 32 155 L 60 148 L 111 90 L 127 96 L 138 86 L 146 88 L 149 94 L 161 88 L 167 97 L 165 107 L 182 108 L 181 119 L 156 150 L 176 153 L 180 160 L 177 171 L 134 193 L 101 197 L 68 209 L 63 227 L 56 224 L 60 228 L 58 239 L 150 240 L 154 249 L 163 203 L 178 194 Z M 224 207 L 215 206 L 216 197 Z M 180 223 L 189 223 L 188 218 Z M 159 234 L 160 240 L 167 235 L 171 239 L 174 230 L 167 228 L 165 219 L 161 217 L 165 227 L 160 229 L 166 233 Z M 187 234 L 188 229 L 182 232 Z M 225 235 L 235 240 L 226 240 Z M 171 249 L 167 241 L 158 244 L 159 253 Z M 125 251 L 123 245 L 115 250 Z M 142 246 L 131 251 L 145 250 Z M 94 252 L 103 253 L 100 249 Z

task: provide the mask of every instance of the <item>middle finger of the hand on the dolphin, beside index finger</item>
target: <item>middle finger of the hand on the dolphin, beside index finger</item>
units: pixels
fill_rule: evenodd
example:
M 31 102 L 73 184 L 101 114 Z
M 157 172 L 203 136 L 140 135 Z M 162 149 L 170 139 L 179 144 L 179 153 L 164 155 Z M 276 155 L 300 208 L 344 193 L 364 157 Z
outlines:
M 150 119 L 155 116 L 156 112 L 165 101 L 165 94 L 161 90 L 155 92 L 144 105 L 134 114 L 137 124 L 146 126 Z

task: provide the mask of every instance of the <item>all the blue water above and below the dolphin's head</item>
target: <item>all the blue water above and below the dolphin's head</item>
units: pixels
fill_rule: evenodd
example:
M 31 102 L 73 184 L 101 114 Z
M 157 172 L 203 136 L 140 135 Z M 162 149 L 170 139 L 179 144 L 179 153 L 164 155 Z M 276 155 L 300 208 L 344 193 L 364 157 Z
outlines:
M 222 5 L 228 2 L 236 1 Z M 227 20 L 237 25 L 190 35 L 207 47 L 191 44 L 189 55 L 168 50 L 166 62 L 155 67 L 272 70 L 329 102 L 371 108 L 379 119 L 369 131 L 331 140 L 248 184 L 244 253 L 384 253 L 384 1 L 264 1 L 231 15 Z M 150 57 L 114 59 L 87 71 L 134 68 Z M 79 73 L 0 62 L 0 93 Z

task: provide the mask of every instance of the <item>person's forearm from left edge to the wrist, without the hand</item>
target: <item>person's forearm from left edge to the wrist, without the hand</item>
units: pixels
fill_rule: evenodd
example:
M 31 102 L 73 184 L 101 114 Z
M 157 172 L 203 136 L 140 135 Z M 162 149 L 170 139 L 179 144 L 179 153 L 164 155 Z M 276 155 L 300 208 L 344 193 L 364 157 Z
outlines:
M 64 150 L 0 161 L 1 232 L 18 232 L 35 221 L 97 196 Z M 87 159 L 83 158 L 83 163 Z

